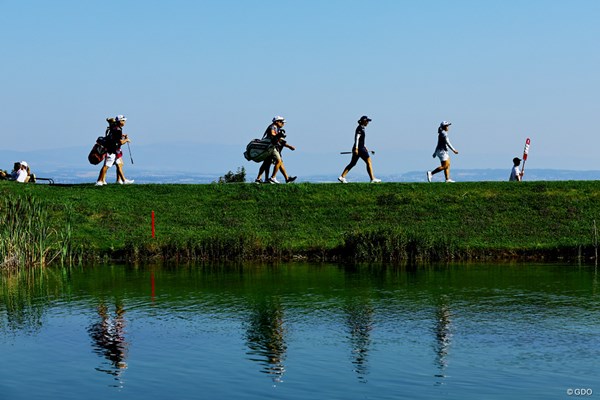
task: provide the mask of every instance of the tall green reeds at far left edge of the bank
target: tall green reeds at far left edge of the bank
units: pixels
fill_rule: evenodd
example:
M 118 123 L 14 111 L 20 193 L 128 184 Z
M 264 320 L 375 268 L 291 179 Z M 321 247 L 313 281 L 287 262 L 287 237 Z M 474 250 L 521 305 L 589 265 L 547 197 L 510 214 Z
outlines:
M 73 262 L 71 236 L 70 221 L 57 232 L 48 205 L 32 196 L 9 194 L 0 202 L 0 269 Z

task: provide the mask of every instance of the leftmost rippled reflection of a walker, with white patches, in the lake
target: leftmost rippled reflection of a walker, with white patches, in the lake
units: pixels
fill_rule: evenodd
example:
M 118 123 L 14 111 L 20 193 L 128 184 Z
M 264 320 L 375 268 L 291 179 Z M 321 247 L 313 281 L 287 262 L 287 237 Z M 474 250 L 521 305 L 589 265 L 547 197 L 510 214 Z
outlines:
M 93 341 L 94 352 L 108 361 L 107 367 L 96 370 L 115 378 L 117 387 L 123 386 L 122 373 L 127 369 L 127 341 L 125 340 L 125 309 L 119 300 L 115 303 L 115 312 L 111 315 L 108 306 L 101 302 L 97 308 L 99 320 L 93 323 L 88 332 Z

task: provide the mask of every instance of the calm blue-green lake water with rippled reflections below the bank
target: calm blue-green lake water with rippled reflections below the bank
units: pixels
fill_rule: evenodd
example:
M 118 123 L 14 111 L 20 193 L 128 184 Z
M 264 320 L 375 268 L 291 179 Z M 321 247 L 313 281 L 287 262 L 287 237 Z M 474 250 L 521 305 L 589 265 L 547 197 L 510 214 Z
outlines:
M 0 283 L 0 399 L 600 396 L 593 266 L 98 266 Z

